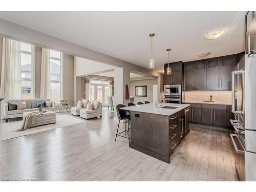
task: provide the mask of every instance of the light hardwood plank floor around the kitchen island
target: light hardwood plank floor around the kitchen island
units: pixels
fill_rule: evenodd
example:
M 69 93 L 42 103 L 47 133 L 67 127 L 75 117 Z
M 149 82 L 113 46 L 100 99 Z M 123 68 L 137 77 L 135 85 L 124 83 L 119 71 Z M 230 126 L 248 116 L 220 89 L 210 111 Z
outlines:
M 0 178 L 37 181 L 238 181 L 229 133 L 190 124 L 169 164 L 128 146 L 102 119 L 0 141 Z M 123 126 L 124 127 L 124 126 Z

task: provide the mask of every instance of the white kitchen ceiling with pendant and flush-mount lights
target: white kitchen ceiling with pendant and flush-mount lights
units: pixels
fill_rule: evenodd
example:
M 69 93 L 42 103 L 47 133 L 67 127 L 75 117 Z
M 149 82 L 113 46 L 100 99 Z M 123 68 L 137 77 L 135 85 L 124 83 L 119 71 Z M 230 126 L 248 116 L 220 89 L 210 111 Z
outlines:
M 74 44 L 148 68 L 153 39 L 155 69 L 163 70 L 167 48 L 170 62 L 239 53 L 244 50 L 244 15 L 241 11 L 162 12 L 0 12 L 0 18 L 46 33 Z M 226 33 L 214 40 L 204 34 L 223 28 Z

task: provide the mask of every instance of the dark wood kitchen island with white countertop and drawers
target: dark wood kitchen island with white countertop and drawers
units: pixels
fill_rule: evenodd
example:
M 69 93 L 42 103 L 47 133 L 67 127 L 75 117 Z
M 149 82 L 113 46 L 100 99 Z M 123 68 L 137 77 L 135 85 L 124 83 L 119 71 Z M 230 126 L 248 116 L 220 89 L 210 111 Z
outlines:
M 170 162 L 170 154 L 189 131 L 189 104 L 154 103 L 127 106 L 131 111 L 130 147 Z

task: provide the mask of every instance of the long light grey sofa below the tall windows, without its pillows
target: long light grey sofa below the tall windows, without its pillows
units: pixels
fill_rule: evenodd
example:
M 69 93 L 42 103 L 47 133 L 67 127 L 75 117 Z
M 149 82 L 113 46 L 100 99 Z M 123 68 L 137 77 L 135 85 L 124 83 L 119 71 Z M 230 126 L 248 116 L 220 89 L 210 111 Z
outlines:
M 17 104 L 18 101 L 25 101 L 27 105 L 27 109 L 24 110 L 8 110 L 8 104 L 5 103 L 4 107 L 4 116 L 6 122 L 8 122 L 8 119 L 10 118 L 16 118 L 16 117 L 23 117 L 23 113 L 25 112 L 34 112 L 38 111 L 38 108 L 36 108 L 37 101 L 44 102 L 45 100 L 49 101 L 50 99 L 9 99 L 7 102 L 15 103 Z M 55 111 L 55 102 L 52 102 L 51 108 L 44 108 L 45 110 L 51 110 Z

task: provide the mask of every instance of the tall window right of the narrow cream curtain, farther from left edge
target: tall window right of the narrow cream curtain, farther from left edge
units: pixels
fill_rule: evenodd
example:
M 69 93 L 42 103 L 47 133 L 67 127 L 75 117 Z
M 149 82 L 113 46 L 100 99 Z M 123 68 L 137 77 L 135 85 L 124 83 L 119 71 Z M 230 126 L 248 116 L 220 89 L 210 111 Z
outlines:
M 62 53 L 50 50 L 50 98 L 62 99 Z

